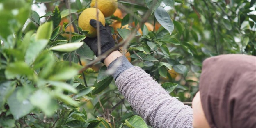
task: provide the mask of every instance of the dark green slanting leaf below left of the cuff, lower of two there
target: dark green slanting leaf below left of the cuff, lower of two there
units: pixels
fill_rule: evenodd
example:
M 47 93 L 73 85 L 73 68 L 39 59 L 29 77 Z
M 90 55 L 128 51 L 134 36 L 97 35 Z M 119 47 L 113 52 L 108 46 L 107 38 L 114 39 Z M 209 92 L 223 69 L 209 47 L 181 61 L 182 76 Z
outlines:
M 101 91 L 103 91 L 105 88 L 107 88 L 109 86 L 109 84 L 111 83 L 111 81 L 113 80 L 112 76 L 107 77 L 106 79 L 102 80 L 102 81 L 95 81 L 93 87 L 95 87 L 95 89 L 92 91 L 92 94 L 98 94 Z

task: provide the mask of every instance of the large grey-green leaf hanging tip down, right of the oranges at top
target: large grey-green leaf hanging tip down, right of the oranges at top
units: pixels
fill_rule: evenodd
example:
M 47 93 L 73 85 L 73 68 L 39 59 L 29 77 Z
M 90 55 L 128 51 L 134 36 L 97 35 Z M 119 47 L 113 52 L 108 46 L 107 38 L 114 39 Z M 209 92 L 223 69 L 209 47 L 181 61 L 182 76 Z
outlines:
M 174 29 L 174 25 L 170 15 L 166 12 L 166 10 L 159 6 L 154 14 L 159 24 L 161 24 L 171 35 Z

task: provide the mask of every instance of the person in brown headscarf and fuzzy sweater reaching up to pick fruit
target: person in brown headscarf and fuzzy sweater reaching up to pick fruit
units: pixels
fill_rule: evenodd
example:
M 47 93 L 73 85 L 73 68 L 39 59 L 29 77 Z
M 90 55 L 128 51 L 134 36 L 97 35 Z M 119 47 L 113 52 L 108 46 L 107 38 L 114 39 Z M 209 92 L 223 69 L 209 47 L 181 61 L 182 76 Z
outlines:
M 96 20 L 90 24 L 96 28 Z M 111 33 L 100 22 L 101 53 L 115 46 Z M 84 42 L 97 56 L 97 38 Z M 192 108 L 161 87 L 140 67 L 131 65 L 119 51 L 103 60 L 118 90 L 132 108 L 154 128 L 255 128 L 256 57 L 230 54 L 203 62 L 199 91 Z

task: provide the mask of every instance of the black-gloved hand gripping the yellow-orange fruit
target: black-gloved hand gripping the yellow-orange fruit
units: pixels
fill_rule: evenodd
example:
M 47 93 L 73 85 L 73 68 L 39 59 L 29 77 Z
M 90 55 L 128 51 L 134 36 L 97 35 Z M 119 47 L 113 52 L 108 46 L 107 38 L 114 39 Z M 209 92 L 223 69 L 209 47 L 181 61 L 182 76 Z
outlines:
M 97 20 L 91 19 L 90 24 L 94 28 L 97 28 Z M 100 35 L 100 44 L 101 44 L 101 54 L 108 51 L 112 47 L 115 46 L 115 40 L 113 39 L 111 35 L 111 31 L 109 29 L 109 26 L 103 26 L 101 22 L 99 22 L 99 35 Z M 95 38 L 89 38 L 86 37 L 83 40 L 89 47 L 92 49 L 94 54 L 98 56 L 98 44 L 97 44 L 97 37 Z M 104 60 L 102 60 L 103 62 Z

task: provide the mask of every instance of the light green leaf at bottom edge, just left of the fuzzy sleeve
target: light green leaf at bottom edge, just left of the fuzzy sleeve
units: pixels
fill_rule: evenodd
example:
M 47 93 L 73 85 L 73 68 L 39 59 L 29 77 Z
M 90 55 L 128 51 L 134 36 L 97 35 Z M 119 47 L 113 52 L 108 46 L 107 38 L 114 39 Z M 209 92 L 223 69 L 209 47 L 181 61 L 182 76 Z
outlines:
M 125 123 L 129 128 L 147 128 L 145 121 L 138 115 L 134 115 L 128 120 L 125 120 Z

